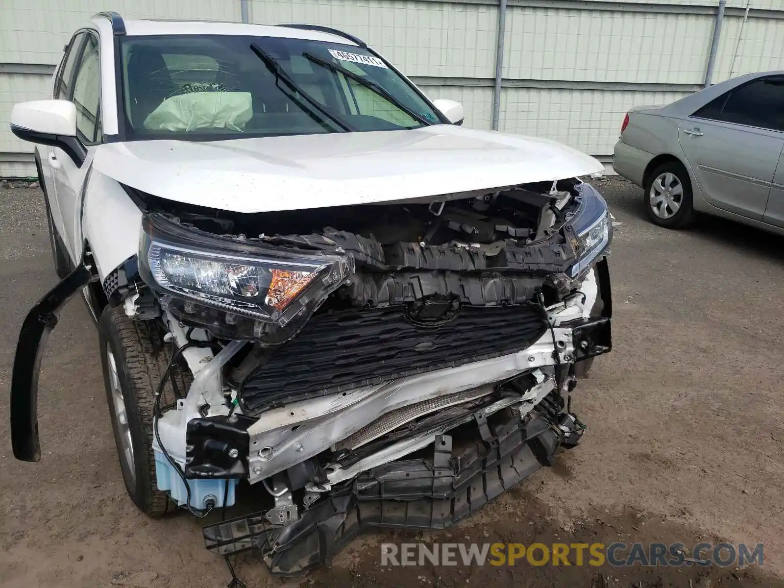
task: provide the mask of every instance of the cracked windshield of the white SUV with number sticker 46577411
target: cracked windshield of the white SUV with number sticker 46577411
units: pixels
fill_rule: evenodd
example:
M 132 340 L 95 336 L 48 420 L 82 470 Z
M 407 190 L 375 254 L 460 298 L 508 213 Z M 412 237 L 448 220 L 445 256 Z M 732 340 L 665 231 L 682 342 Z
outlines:
M 121 42 L 127 139 L 416 129 L 442 119 L 367 49 L 296 38 L 183 35 Z

